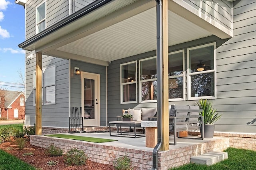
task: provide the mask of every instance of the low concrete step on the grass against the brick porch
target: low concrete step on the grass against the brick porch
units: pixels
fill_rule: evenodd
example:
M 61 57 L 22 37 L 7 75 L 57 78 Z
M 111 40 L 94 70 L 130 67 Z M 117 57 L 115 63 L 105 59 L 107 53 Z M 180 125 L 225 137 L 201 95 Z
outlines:
M 191 163 L 212 165 L 228 158 L 227 152 L 211 151 L 202 155 L 192 156 Z

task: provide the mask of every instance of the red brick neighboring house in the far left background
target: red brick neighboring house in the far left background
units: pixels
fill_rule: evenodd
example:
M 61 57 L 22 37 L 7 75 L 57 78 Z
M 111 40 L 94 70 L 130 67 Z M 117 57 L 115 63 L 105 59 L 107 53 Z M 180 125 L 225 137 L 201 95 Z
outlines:
M 22 91 L 0 90 L 0 118 L 7 120 L 25 117 L 25 95 Z

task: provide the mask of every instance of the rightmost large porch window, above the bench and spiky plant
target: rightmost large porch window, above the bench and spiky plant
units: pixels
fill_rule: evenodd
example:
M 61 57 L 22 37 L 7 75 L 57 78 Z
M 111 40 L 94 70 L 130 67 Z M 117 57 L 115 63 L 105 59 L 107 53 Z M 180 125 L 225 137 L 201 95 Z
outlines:
M 188 100 L 216 98 L 216 43 L 188 48 Z

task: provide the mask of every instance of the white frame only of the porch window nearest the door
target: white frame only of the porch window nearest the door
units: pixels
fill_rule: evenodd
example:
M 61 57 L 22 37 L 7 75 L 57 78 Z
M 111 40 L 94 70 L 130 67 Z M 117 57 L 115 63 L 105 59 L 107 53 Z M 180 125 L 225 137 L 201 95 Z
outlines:
M 127 82 L 127 83 L 122 83 L 122 66 L 123 65 L 128 65 L 128 64 L 132 64 L 132 63 L 135 63 L 135 81 L 133 82 Z M 138 79 L 137 79 L 137 61 L 131 61 L 131 62 L 128 62 L 128 63 L 122 63 L 120 64 L 120 93 L 121 93 L 121 98 L 120 98 L 120 103 L 121 104 L 127 104 L 127 103 L 138 103 L 138 97 L 137 97 L 137 94 L 138 94 Z M 123 85 L 129 85 L 129 84 L 136 84 L 136 100 L 135 101 L 123 101 Z

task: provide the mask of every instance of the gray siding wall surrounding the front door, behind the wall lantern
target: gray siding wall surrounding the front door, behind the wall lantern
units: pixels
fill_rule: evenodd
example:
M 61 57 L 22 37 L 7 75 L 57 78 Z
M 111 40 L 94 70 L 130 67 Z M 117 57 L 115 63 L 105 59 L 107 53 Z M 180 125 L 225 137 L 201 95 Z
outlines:
M 70 106 L 81 107 L 81 75 L 74 74 L 74 67 L 80 71 L 100 74 L 100 126 L 106 126 L 106 67 L 71 60 L 70 64 Z M 86 126 L 86 125 L 85 125 Z

